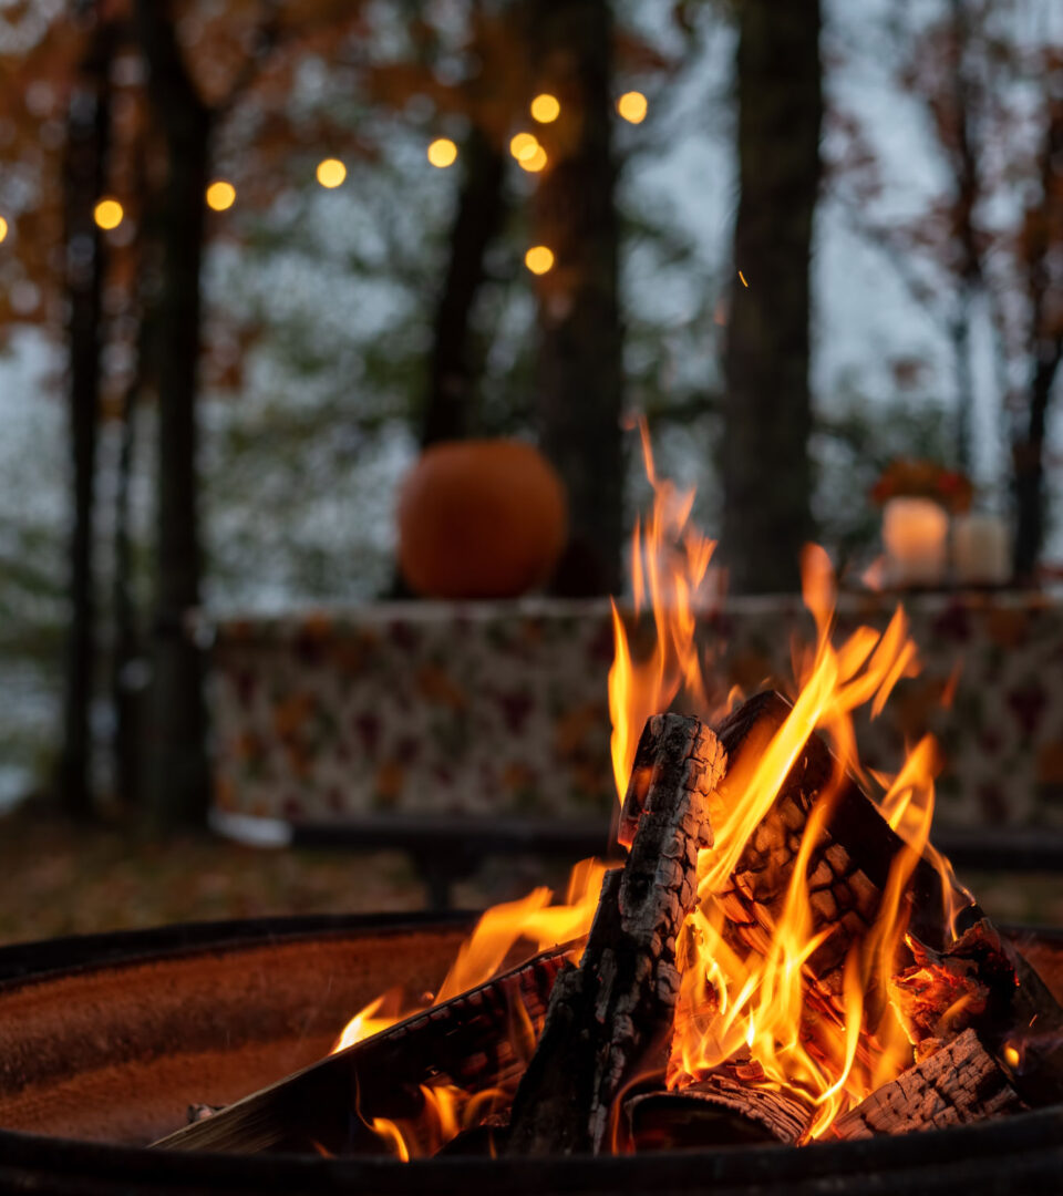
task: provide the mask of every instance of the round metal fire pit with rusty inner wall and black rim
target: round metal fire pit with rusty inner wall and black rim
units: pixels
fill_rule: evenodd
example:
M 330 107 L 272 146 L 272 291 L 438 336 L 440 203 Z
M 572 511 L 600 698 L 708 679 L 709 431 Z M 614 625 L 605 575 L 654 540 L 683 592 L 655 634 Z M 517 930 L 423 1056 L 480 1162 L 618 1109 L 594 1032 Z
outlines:
M 324 1055 L 396 983 L 435 987 L 452 915 L 171 927 L 0 950 L 0 1190 L 57 1194 L 982 1194 L 1063 1190 L 1063 1106 L 867 1142 L 627 1158 L 178 1154 L 145 1143 Z M 1063 933 L 1014 938 L 1057 995 Z

